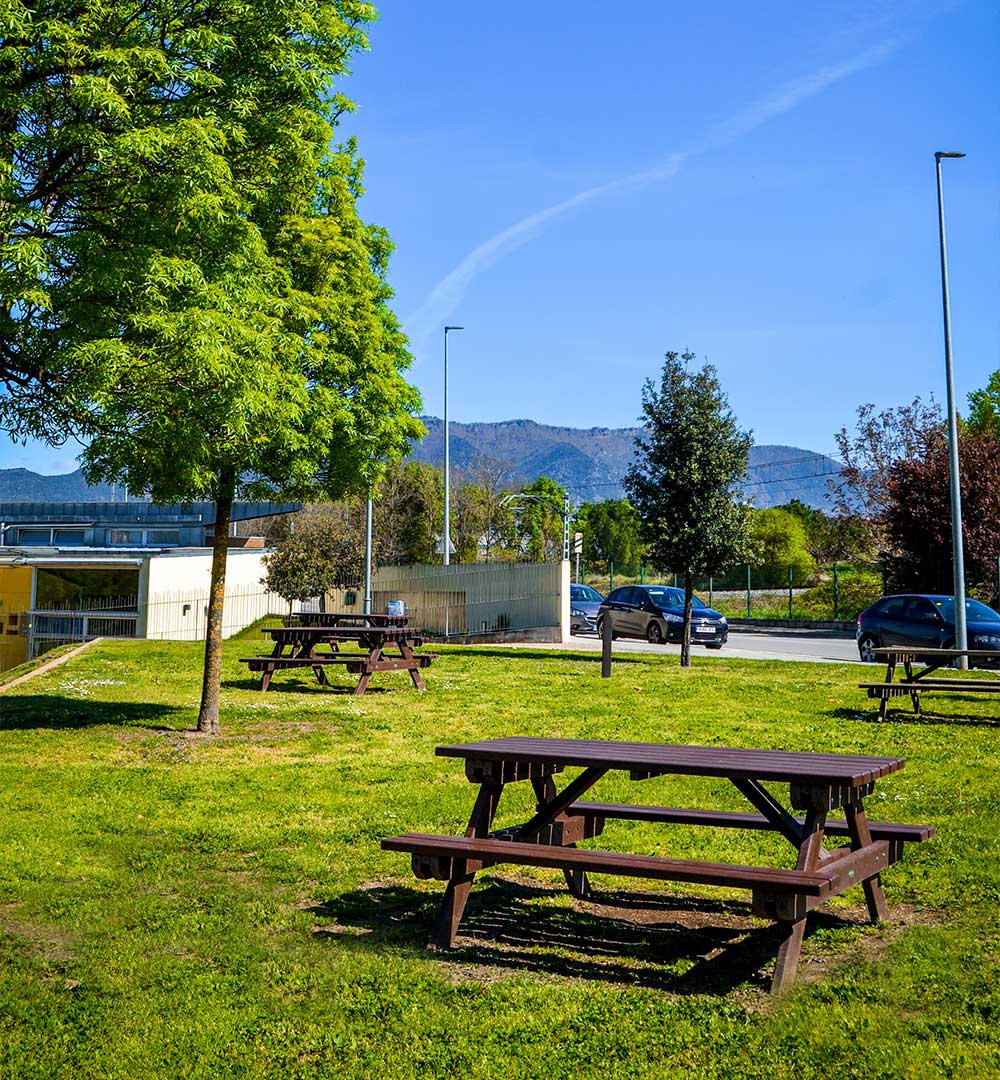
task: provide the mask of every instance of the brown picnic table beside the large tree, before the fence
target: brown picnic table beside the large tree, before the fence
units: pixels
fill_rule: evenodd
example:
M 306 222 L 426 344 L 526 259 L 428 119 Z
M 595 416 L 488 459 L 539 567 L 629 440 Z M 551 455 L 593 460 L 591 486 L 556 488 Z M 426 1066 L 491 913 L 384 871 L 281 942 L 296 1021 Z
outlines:
M 392 617 L 398 618 L 398 617 Z M 311 667 L 321 686 L 327 685 L 325 669 L 342 664 L 351 674 L 359 675 L 355 697 L 368 689 L 368 681 L 377 672 L 409 672 L 414 686 L 423 690 L 420 669 L 428 667 L 435 658 L 429 653 L 417 654 L 414 649 L 423 644 L 419 629 L 395 623 L 365 625 L 350 616 L 343 622 L 289 626 L 269 626 L 265 630 L 274 642 L 270 656 L 246 657 L 240 663 L 252 672 L 260 672 L 260 689 L 267 690 L 275 671 Z M 356 649 L 343 649 L 356 645 Z M 387 649 L 397 654 L 387 654 Z

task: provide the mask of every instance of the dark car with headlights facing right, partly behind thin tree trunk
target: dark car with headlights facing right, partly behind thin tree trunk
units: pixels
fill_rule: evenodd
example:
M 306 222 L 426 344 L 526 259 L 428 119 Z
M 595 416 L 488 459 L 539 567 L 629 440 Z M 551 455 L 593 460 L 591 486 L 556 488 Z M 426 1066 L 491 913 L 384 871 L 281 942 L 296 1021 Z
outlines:
M 670 585 L 622 585 L 608 594 L 597 612 L 597 633 L 604 637 L 605 620 L 612 637 L 645 637 L 658 645 L 684 636 L 684 590 Z M 691 597 L 691 643 L 720 649 L 729 637 L 726 616 Z

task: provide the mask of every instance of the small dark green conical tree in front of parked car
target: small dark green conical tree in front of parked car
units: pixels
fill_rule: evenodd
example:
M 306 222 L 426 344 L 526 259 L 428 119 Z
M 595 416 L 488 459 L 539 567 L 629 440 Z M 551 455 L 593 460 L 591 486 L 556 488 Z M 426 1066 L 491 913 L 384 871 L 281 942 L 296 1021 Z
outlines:
M 746 562 L 749 508 L 737 497 L 753 443 L 729 410 L 715 368 L 689 372 L 692 352 L 666 353 L 660 384 L 643 387 L 643 432 L 625 475 L 652 562 L 684 580 L 681 666 L 691 663 L 694 578 Z

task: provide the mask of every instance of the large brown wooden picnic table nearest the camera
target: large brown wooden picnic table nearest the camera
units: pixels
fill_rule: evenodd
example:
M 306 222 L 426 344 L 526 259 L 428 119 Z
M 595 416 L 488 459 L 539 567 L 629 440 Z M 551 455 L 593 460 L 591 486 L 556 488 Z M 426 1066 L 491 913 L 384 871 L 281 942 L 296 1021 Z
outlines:
M 876 781 L 903 768 L 901 757 L 540 738 L 490 739 L 438 746 L 436 753 L 464 758 L 465 775 L 478 785 L 464 835 L 408 833 L 382 840 L 389 851 L 410 853 L 417 877 L 447 881 L 430 943 L 434 948 L 454 945 L 476 873 L 499 863 L 562 869 L 570 891 L 582 899 L 591 895 L 590 873 L 690 881 L 749 889 L 754 914 L 783 928 L 772 981 L 772 990 L 778 991 L 795 976 L 808 913 L 861 885 L 871 921 L 884 919 L 882 870 L 902 856 L 905 842 L 925 840 L 934 832 L 929 825 L 867 820 L 864 798 Z M 582 771 L 557 789 L 553 778 L 567 768 Z M 661 775 L 724 778 L 755 812 L 580 801 L 611 771 L 625 772 L 633 781 Z M 522 781 L 529 781 L 535 791 L 536 813 L 524 824 L 494 831 L 504 786 Z M 801 816 L 785 809 L 765 786 L 771 782 L 788 784 L 788 804 L 803 811 Z M 842 820 L 828 819 L 836 809 L 843 810 Z M 605 822 L 617 819 L 776 832 L 795 849 L 795 866 L 739 866 L 576 847 L 599 836 Z M 825 837 L 846 837 L 847 842 L 825 848 Z

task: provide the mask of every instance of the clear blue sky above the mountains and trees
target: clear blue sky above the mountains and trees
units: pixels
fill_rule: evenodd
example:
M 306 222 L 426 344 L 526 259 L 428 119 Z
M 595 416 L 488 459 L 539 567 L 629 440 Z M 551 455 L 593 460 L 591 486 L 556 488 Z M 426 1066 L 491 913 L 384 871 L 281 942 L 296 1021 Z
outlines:
M 1000 8 L 382 0 L 342 90 L 424 411 L 635 423 L 667 349 L 758 443 L 1000 368 Z M 0 467 L 73 468 L 0 448 Z

